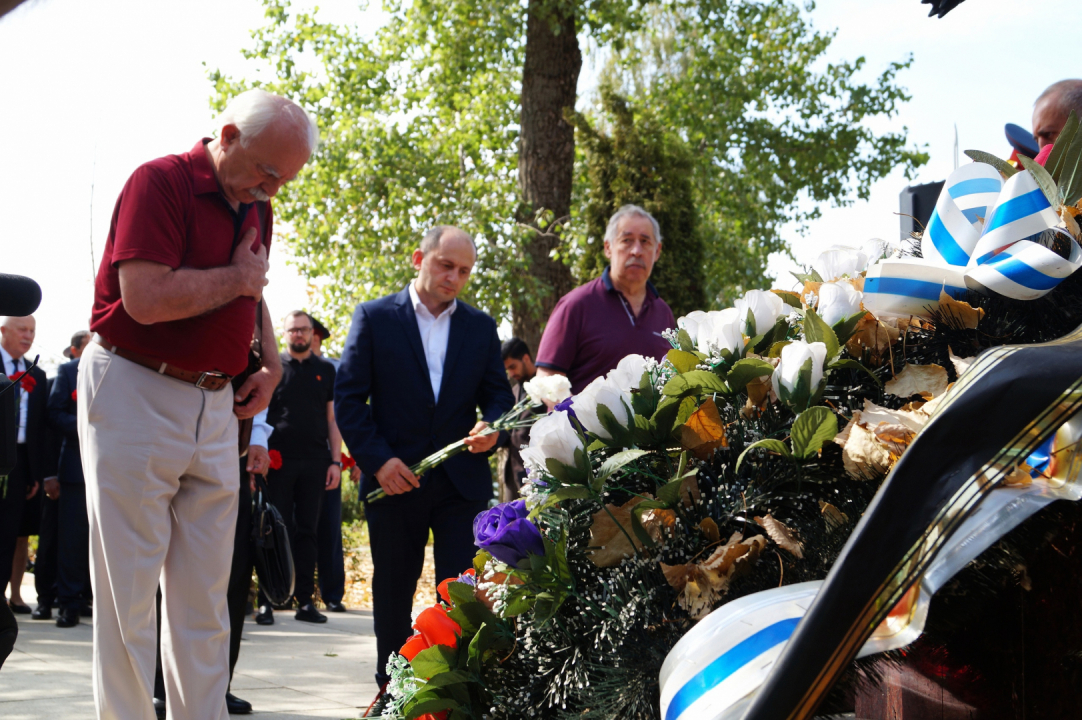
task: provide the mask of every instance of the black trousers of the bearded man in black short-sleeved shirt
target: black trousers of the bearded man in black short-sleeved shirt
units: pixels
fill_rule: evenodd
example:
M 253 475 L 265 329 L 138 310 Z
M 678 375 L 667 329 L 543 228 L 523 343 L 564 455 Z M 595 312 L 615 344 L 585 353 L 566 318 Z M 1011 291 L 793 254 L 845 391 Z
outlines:
M 312 602 L 316 588 L 316 534 L 319 527 L 319 505 L 327 485 L 327 468 L 331 457 L 282 457 L 281 468 L 267 475 L 267 499 L 278 508 L 289 529 L 293 549 L 293 567 L 296 581 L 293 597 L 300 606 Z M 261 592 L 260 605 L 270 601 Z

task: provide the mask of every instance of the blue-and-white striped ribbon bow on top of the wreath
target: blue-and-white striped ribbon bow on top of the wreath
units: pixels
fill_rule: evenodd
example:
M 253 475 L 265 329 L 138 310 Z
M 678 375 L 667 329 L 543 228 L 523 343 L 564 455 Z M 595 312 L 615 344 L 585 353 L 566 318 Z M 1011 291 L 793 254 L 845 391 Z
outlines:
M 883 260 L 868 270 L 865 307 L 873 315 L 931 317 L 939 292 L 965 298 L 965 289 L 1016 300 L 1047 293 L 1082 266 L 1082 248 L 1066 231 L 1069 257 L 1033 241 L 1056 228 L 1059 217 L 1028 171 L 1005 183 L 982 162 L 959 168 L 944 183 L 928 227 L 923 258 Z

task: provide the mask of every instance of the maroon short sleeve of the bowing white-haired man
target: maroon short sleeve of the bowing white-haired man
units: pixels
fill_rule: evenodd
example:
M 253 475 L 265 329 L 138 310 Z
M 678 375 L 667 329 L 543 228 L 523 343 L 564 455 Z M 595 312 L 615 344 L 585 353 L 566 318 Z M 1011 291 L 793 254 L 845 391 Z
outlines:
M 117 207 L 113 265 L 149 260 L 180 267 L 187 232 L 184 195 L 189 192 L 160 168 L 144 165 L 136 169 Z

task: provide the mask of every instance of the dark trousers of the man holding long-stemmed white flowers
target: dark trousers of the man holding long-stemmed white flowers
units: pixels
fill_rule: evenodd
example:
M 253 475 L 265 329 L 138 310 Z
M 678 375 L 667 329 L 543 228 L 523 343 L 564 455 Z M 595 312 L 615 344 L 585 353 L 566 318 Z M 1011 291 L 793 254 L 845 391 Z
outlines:
M 477 549 L 473 521 L 487 500 L 467 500 L 443 468 L 421 488 L 385 501 L 365 503 L 372 548 L 372 619 L 375 626 L 375 682 L 388 680 L 387 658 L 413 634 L 411 611 L 432 531 L 436 582 L 473 567 Z

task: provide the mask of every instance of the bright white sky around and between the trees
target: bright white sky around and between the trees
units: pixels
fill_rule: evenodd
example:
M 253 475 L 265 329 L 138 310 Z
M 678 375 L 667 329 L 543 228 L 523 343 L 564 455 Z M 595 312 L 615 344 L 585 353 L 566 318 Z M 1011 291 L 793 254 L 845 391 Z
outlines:
M 366 30 L 380 22 L 356 0 L 318 4 L 329 22 Z M 819 29 L 836 28 L 830 58 L 867 58 L 858 79 L 870 81 L 912 53 L 898 81 L 913 100 L 872 127 L 908 127 L 910 141 L 932 155 L 912 181 L 925 183 L 953 169 L 955 126 L 961 149 L 1005 157 L 1004 123 L 1029 128 L 1040 92 L 1071 68 L 1082 75 L 1082 43 L 1047 38 L 1048 21 L 1072 17 L 1073 9 L 1066 0 L 968 0 L 935 19 L 918 0 L 822 0 L 810 17 Z M 62 362 L 71 333 L 88 324 L 93 275 L 124 181 L 141 163 L 186 152 L 212 132 L 207 74 L 252 77 L 241 50 L 262 23 L 259 0 L 28 0 L 0 18 L 0 272 L 42 287 L 31 355 L 40 353 L 44 367 Z M 588 62 L 580 95 L 594 77 Z M 894 213 L 907 184 L 895 172 L 867 201 L 824 207 L 805 235 L 787 227 L 783 237 L 800 263 L 834 244 L 897 237 Z M 289 260 L 276 244 L 266 291 L 276 316 L 309 304 L 307 282 Z M 771 259 L 778 286 L 791 285 L 787 275 L 796 269 Z

